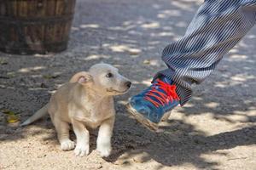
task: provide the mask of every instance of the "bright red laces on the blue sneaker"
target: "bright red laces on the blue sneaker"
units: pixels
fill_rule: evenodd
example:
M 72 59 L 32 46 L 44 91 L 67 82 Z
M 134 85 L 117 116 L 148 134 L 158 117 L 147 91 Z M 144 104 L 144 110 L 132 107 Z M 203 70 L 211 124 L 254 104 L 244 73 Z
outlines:
M 162 89 L 165 93 L 160 92 L 156 87 Z M 158 95 L 157 95 L 158 94 Z M 176 94 L 176 86 L 170 85 L 166 82 L 161 81 L 160 79 L 156 80 L 156 83 L 151 87 L 151 90 L 148 91 L 144 99 L 150 101 L 154 106 L 160 107 L 160 105 L 168 104 L 169 101 L 179 100 L 179 97 Z M 155 101 L 151 97 L 154 97 L 158 101 Z

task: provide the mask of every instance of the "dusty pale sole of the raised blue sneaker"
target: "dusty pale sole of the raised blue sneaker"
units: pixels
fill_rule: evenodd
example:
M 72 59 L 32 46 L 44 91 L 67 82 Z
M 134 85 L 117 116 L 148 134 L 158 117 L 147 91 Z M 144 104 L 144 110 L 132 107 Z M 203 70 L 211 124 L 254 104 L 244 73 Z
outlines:
M 133 116 L 137 122 L 140 122 L 143 124 L 144 127 L 147 127 L 150 131 L 157 132 L 159 130 L 159 126 L 157 123 L 150 122 L 147 118 L 142 116 L 139 112 L 137 112 L 131 105 L 128 103 L 125 105 L 128 112 L 131 116 Z

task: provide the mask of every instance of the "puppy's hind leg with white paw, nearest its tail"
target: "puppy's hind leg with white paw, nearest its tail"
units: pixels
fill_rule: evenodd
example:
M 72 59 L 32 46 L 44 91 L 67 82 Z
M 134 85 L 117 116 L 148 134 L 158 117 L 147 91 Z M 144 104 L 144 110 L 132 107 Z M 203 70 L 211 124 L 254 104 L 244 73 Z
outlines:
M 55 128 L 57 131 L 58 139 L 61 143 L 61 150 L 73 150 L 75 143 L 69 139 L 69 125 L 59 119 L 55 119 Z

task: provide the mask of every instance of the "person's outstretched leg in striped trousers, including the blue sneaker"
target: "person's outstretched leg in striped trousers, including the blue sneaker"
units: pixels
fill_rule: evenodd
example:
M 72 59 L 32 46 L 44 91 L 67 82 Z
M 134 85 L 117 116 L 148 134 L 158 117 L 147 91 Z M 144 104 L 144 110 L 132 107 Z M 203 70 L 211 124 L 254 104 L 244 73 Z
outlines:
M 191 85 L 205 80 L 255 23 L 256 0 L 205 1 L 184 37 L 163 50 L 168 68 L 157 73 L 151 87 L 130 99 L 129 111 L 144 125 L 155 126 L 166 111 L 190 99 Z M 166 95 L 171 95 L 168 101 L 163 100 Z

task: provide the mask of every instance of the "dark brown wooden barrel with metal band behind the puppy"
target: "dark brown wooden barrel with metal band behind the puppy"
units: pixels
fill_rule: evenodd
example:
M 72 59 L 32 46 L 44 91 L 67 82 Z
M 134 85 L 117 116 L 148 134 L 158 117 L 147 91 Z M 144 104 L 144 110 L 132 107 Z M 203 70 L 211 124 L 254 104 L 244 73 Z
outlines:
M 75 0 L 0 0 L 0 51 L 46 54 L 67 48 Z

